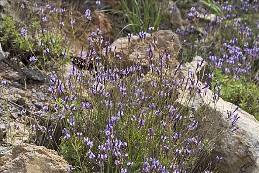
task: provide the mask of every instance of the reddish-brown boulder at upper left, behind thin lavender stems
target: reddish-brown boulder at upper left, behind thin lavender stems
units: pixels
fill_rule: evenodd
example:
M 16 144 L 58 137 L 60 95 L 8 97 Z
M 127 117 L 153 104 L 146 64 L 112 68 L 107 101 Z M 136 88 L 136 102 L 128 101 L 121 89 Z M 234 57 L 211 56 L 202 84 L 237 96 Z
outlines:
M 65 3 L 65 1 L 63 2 Z M 84 8 L 83 8 L 84 6 Z M 70 9 L 69 6 L 67 9 Z M 89 5 L 81 4 L 80 8 L 84 9 L 82 10 L 76 10 L 78 6 L 74 7 L 73 10 L 73 17 L 76 19 L 75 23 L 73 24 L 73 27 L 76 28 L 76 33 L 73 36 L 73 31 L 71 27 L 64 27 L 64 37 L 62 40 L 62 43 L 64 43 L 64 47 L 68 45 L 73 45 L 70 47 L 70 55 L 72 57 L 79 57 L 79 53 L 82 50 L 86 53 L 89 48 L 90 41 L 88 38 L 91 36 L 92 32 L 97 32 L 97 28 L 99 28 L 102 31 L 102 35 L 104 37 L 104 42 L 107 40 L 110 40 L 112 42 L 114 40 L 113 36 L 113 28 L 112 28 L 112 22 L 109 16 L 102 12 L 95 12 L 91 13 L 91 21 L 87 21 L 85 17 L 82 17 L 84 15 L 85 9 L 89 8 Z M 69 19 L 70 11 L 65 13 L 66 17 Z M 75 38 L 74 38 L 75 37 Z M 99 50 L 98 46 L 94 47 L 95 51 L 97 52 Z

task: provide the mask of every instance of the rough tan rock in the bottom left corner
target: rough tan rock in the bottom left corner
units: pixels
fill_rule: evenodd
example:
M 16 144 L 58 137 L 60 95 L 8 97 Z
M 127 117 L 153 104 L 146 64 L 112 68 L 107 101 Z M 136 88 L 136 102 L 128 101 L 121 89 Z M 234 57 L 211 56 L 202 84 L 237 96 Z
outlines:
M 1 173 L 67 173 L 68 162 L 54 150 L 43 146 L 14 146 L 11 160 L 1 166 Z

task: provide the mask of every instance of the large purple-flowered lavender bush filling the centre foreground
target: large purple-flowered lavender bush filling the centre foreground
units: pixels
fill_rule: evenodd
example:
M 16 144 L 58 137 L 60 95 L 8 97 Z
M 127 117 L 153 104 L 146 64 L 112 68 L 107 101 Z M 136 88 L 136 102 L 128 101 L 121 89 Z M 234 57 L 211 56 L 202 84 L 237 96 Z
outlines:
M 97 4 L 99 3 L 98 1 Z M 50 13 L 50 8 L 46 5 L 45 10 Z M 237 130 L 235 123 L 239 117 L 235 114 L 237 108 L 234 111 L 229 110 L 229 126 L 216 138 L 204 138 L 200 133 L 199 125 L 203 112 L 192 116 L 185 105 L 188 105 L 196 94 L 205 97 L 210 88 L 208 83 L 203 85 L 196 79 L 196 72 L 205 60 L 197 62 L 196 70 L 189 70 L 187 76 L 180 78 L 182 65 L 175 67 L 171 64 L 172 56 L 160 50 L 153 38 L 150 45 L 153 48 L 148 49 L 148 73 L 152 78 L 148 78 L 144 75 L 140 63 L 125 69 L 117 65 L 116 62 L 120 61 L 121 57 L 115 55 L 116 47 L 105 41 L 102 31 L 97 29 L 88 38 L 90 45 L 86 53 L 82 50 L 78 52 L 80 61 L 76 62 L 76 58 L 69 54 L 70 45 L 56 47 L 57 42 L 62 42 L 62 29 L 67 27 L 64 17 L 66 10 L 60 8 L 56 11 L 55 15 L 61 16 L 63 21 L 58 23 L 59 27 L 53 33 L 44 29 L 47 28 L 45 23 L 50 19 L 43 15 L 42 10 L 42 25 L 37 33 L 37 42 L 41 47 L 43 59 L 45 57 L 60 65 L 60 73 L 51 74 L 48 88 L 51 100 L 48 106 L 44 106 L 37 113 L 47 119 L 45 125 L 30 125 L 31 133 L 39 136 L 37 144 L 57 149 L 71 164 L 68 171 L 74 172 L 217 172 L 222 160 L 220 156 L 217 157 L 216 163 L 205 161 L 210 159 L 210 152 L 220 137 Z M 191 8 L 191 14 L 188 16 L 197 23 L 199 12 L 196 8 Z M 89 9 L 85 11 L 84 17 L 88 21 L 91 20 Z M 217 21 L 214 22 L 215 26 L 218 26 Z M 72 27 L 73 22 L 72 19 Z M 213 28 L 212 32 L 215 28 L 211 25 L 209 28 Z M 152 33 L 154 27 L 149 27 Z M 183 35 L 181 32 L 178 30 L 178 33 Z M 28 37 L 30 34 L 22 30 L 23 36 Z M 143 42 L 147 35 L 148 33 L 143 31 L 137 34 Z M 54 37 L 58 39 L 53 41 Z M 129 34 L 129 43 L 131 37 L 132 34 Z M 73 38 L 75 39 L 74 35 Z M 208 37 L 205 35 L 203 39 L 206 43 Z M 229 44 L 233 46 L 232 43 Z M 226 45 L 222 50 L 228 56 L 233 54 L 228 50 L 230 46 Z M 31 51 L 34 56 L 30 57 L 30 61 L 37 62 L 38 56 L 33 49 Z M 206 58 L 211 60 L 209 62 L 215 68 L 235 65 L 227 58 L 225 61 L 228 60 L 230 64 L 224 66 L 223 60 L 215 56 Z M 70 72 L 64 73 L 61 66 L 64 61 L 76 62 L 82 69 L 72 66 Z M 236 61 L 242 61 L 242 56 L 238 56 Z M 38 63 L 44 70 L 44 61 Z M 244 68 L 248 67 L 250 64 L 245 63 Z M 87 68 L 89 71 L 85 70 Z M 250 67 L 249 70 L 251 69 L 253 68 Z M 238 70 L 236 74 L 239 74 Z M 212 77 L 212 73 L 207 74 L 208 80 Z M 2 86 L 1 92 L 4 92 L 5 80 L 2 80 Z M 214 93 L 211 104 L 216 106 L 222 95 L 221 87 L 215 84 L 212 89 Z M 185 102 L 181 101 L 182 93 L 188 94 L 189 99 Z M 25 114 L 27 110 L 22 111 Z M 53 119 L 56 121 L 52 121 Z

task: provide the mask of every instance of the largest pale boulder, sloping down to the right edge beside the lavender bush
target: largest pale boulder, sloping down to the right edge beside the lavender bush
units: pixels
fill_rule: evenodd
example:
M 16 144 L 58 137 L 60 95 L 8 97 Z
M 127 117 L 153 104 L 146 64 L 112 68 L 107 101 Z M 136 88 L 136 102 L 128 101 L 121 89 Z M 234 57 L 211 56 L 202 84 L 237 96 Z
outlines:
M 197 61 L 191 62 L 191 64 L 195 63 Z M 192 70 L 195 71 L 195 69 Z M 182 105 L 188 100 L 187 106 L 195 116 L 200 115 L 200 112 L 203 113 L 199 126 L 205 138 L 214 138 L 221 132 L 222 128 L 229 127 L 231 122 L 227 118 L 227 111 L 233 112 L 235 110 L 234 104 L 226 102 L 222 98 L 219 98 L 215 106 L 211 102 L 212 95 L 212 91 L 208 89 L 205 96 L 201 97 L 195 93 L 190 99 L 187 92 L 183 92 L 183 101 L 178 100 Z M 182 99 L 182 96 L 179 98 Z M 240 117 L 235 124 L 239 130 L 225 134 L 222 140 L 217 142 L 210 154 L 211 161 L 217 163 L 216 156 L 222 157 L 219 167 L 220 173 L 259 173 L 259 122 L 241 109 L 235 113 Z M 208 162 L 207 160 L 204 164 Z

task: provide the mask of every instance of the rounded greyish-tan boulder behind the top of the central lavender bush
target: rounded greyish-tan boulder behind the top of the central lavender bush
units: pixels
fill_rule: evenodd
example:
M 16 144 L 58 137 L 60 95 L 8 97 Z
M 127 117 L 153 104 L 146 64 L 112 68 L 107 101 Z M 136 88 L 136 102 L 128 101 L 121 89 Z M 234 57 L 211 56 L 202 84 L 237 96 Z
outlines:
M 144 43 L 142 43 L 138 36 L 131 37 L 129 46 L 128 37 L 119 38 L 113 42 L 111 45 L 112 47 L 116 46 L 115 55 L 120 54 L 122 56 L 121 60 L 116 60 L 117 66 L 126 69 L 141 62 L 144 73 L 147 73 L 147 69 L 149 68 L 147 49 L 149 44 L 154 47 L 152 37 L 158 42 L 158 48 L 153 50 L 154 57 L 159 57 L 166 49 L 166 53 L 172 56 L 171 59 L 173 62 L 170 65 L 177 64 L 176 55 L 181 48 L 181 43 L 177 35 L 171 30 L 161 30 L 152 33 L 152 36 L 148 34 Z

